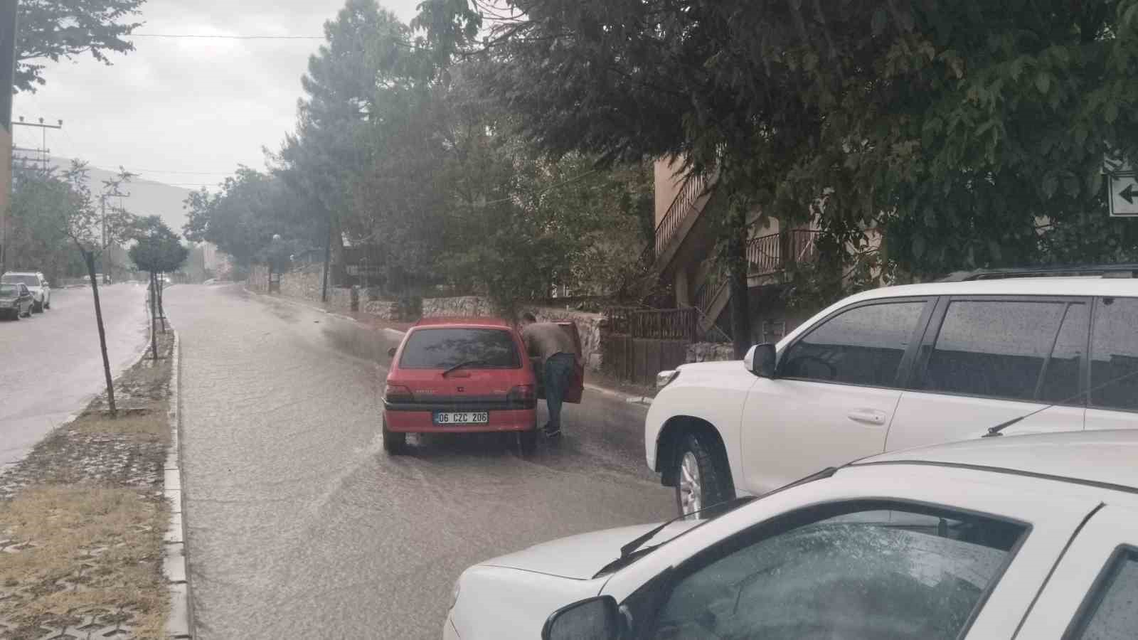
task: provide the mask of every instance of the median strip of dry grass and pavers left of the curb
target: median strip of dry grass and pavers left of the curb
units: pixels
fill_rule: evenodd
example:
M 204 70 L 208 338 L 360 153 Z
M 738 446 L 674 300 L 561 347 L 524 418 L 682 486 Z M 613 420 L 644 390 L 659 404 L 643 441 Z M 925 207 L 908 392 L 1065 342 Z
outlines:
M 0 475 L 0 638 L 163 638 L 173 333 Z M 149 352 L 148 352 L 149 355 Z

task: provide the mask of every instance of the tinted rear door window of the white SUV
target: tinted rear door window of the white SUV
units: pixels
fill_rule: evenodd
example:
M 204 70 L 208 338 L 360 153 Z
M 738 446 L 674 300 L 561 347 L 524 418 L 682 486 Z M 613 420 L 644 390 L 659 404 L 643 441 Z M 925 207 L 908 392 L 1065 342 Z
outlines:
M 916 388 L 1053 402 L 1075 396 L 1086 350 L 1086 306 L 953 302 Z

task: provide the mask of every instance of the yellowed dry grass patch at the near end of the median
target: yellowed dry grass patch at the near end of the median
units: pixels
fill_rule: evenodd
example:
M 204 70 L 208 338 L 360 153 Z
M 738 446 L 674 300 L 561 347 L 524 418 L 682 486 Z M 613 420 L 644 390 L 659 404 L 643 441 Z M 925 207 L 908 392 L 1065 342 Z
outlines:
M 160 638 L 168 518 L 160 497 L 131 489 L 38 485 L 0 502 L 0 634 L 22 640 L 91 625 Z

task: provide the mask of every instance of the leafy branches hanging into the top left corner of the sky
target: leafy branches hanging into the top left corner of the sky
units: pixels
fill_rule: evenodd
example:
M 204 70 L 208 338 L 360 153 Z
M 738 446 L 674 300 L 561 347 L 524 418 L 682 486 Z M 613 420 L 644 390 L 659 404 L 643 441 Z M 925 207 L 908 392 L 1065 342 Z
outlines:
M 31 60 L 74 59 L 90 54 L 96 60 L 112 64 L 108 54 L 134 50 L 129 36 L 139 22 L 146 0 L 20 0 L 16 35 L 17 91 L 35 91 L 43 85 L 44 65 Z

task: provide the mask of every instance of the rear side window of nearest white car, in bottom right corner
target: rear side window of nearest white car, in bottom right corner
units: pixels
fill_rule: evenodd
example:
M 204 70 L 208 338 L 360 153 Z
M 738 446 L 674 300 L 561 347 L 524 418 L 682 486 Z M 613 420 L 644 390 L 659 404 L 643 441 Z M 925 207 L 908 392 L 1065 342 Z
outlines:
M 1138 551 L 1120 549 L 1088 598 L 1082 618 L 1064 640 L 1133 640 L 1138 630 Z

